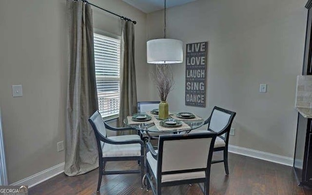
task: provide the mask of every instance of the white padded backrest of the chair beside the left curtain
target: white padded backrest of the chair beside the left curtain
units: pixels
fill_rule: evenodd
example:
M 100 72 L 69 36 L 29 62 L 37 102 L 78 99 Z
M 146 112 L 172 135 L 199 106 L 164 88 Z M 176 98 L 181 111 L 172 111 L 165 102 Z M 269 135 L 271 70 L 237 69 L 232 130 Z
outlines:
M 89 123 L 92 126 L 94 134 L 97 139 L 98 153 L 102 153 L 103 141 L 102 137 L 106 137 L 106 128 L 102 116 L 99 114 L 98 110 L 89 118 Z

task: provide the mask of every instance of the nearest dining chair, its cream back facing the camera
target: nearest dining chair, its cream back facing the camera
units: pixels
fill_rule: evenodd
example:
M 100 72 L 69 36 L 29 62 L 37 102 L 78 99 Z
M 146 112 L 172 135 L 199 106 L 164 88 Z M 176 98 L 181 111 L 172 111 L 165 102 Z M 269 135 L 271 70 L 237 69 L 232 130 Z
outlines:
M 208 195 L 216 136 L 215 132 L 161 135 L 158 139 L 158 151 L 148 142 L 147 190 L 151 187 L 154 195 L 161 195 L 161 187 L 204 183 L 204 194 Z

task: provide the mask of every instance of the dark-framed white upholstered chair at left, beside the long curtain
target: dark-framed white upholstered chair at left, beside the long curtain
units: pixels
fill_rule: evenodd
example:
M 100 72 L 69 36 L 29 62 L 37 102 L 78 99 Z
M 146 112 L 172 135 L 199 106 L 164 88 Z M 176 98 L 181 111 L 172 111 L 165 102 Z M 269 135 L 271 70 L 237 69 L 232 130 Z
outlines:
M 136 160 L 144 162 L 144 143 L 138 135 L 107 137 L 106 129 L 113 131 L 131 130 L 131 128 L 114 128 L 103 121 L 101 115 L 96 111 L 89 122 L 93 128 L 98 145 L 98 188 L 99 192 L 102 176 L 114 174 L 140 174 L 141 180 L 144 175 L 144 166 L 141 163 L 139 170 L 128 171 L 105 171 L 107 161 Z M 141 188 L 143 185 L 141 184 Z

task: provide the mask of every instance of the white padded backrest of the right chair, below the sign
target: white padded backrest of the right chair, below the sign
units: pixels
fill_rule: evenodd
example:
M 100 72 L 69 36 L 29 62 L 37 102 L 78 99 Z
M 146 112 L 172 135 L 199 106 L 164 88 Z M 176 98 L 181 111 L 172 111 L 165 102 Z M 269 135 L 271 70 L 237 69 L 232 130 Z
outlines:
M 208 128 L 218 132 L 218 135 L 229 133 L 235 115 L 236 113 L 232 111 L 215 106 L 211 114 Z

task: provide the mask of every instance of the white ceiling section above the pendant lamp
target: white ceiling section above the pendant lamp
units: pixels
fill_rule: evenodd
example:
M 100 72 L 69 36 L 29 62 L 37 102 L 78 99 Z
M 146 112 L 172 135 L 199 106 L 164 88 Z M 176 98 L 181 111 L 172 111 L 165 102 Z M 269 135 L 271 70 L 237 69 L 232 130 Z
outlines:
M 164 8 L 164 0 L 123 0 L 126 3 L 136 7 L 145 13 L 155 12 Z M 182 5 L 195 0 L 167 0 L 166 5 L 168 7 L 174 7 Z

